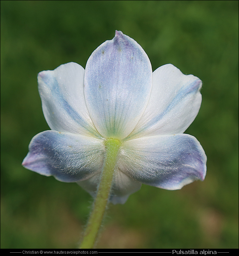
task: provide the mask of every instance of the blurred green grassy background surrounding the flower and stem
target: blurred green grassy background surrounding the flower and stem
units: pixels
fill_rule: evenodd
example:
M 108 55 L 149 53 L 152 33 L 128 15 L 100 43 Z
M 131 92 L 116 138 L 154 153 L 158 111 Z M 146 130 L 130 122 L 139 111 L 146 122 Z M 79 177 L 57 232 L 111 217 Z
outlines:
M 238 248 L 238 1 L 1 1 L 1 248 L 77 248 L 92 198 L 21 166 L 49 130 L 37 73 L 76 62 L 115 30 L 152 68 L 172 63 L 203 81 L 186 133 L 203 146 L 204 182 L 150 186 L 110 205 L 96 248 Z

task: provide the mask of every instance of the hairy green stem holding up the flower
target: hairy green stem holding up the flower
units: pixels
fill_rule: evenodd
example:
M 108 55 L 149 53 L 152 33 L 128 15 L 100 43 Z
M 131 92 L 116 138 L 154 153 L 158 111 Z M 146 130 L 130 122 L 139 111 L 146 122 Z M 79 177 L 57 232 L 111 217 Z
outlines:
M 107 202 L 111 192 L 111 185 L 114 176 L 117 156 L 121 142 L 117 139 L 105 141 L 106 158 L 101 174 L 101 181 L 98 187 L 97 196 L 94 201 L 93 210 L 89 217 L 84 238 L 81 243 L 82 249 L 91 249 L 96 242 L 102 219 L 106 210 Z

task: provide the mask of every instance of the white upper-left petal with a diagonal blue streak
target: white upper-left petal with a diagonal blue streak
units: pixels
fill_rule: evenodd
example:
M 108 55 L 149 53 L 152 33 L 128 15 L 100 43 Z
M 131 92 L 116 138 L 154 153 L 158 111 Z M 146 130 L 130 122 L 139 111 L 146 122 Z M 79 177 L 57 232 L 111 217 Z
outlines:
M 38 74 L 42 109 L 52 130 L 97 134 L 85 104 L 83 80 L 84 68 L 73 62 Z

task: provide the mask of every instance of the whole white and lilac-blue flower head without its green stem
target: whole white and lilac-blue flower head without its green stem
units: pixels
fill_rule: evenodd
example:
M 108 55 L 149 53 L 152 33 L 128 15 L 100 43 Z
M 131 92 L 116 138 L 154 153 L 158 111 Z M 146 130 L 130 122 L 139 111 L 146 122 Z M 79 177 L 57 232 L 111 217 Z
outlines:
M 95 196 L 104 141 L 120 140 L 110 201 L 124 203 L 147 184 L 167 190 L 204 180 L 206 155 L 183 134 L 201 105 L 201 80 L 172 64 L 152 72 L 141 46 L 121 31 L 100 45 L 86 68 L 60 65 L 38 74 L 45 119 L 23 166 Z

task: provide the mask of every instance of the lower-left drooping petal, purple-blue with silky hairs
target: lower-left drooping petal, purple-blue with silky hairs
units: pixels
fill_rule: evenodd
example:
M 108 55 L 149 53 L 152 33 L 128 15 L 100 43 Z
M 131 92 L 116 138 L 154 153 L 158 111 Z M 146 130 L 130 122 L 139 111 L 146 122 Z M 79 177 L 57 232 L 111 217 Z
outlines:
M 59 181 L 77 182 L 101 171 L 104 150 L 104 143 L 93 137 L 44 131 L 31 140 L 22 165 Z

